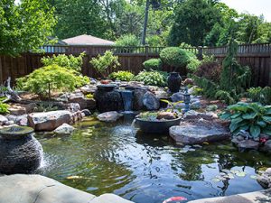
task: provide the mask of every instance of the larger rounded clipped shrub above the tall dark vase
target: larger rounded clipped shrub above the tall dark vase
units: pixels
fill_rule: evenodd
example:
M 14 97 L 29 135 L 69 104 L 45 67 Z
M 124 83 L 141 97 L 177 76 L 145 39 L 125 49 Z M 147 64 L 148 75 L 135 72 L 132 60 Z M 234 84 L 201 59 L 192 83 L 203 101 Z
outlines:
M 190 57 L 188 51 L 178 47 L 168 47 L 160 52 L 161 60 L 176 69 L 184 69 L 189 63 Z

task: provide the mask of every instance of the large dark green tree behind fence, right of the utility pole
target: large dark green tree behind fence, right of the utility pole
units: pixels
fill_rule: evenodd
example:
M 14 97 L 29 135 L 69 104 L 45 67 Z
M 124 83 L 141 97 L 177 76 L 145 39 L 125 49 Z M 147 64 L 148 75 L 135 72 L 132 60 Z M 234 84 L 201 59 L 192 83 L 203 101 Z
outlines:
M 175 9 L 175 19 L 168 42 L 178 46 L 182 42 L 203 45 L 204 38 L 215 23 L 220 23 L 220 10 L 213 1 L 187 0 Z

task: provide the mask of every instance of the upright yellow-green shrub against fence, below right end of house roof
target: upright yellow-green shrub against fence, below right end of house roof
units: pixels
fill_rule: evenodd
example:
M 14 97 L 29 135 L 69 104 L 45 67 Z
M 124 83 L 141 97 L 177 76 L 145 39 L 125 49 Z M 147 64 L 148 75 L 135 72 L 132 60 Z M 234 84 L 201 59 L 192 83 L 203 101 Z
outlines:
M 96 69 L 102 77 L 106 78 L 108 75 L 108 69 L 116 69 L 120 66 L 118 57 L 114 56 L 112 51 L 106 51 L 104 55 L 99 55 L 97 58 L 92 58 L 89 63 Z

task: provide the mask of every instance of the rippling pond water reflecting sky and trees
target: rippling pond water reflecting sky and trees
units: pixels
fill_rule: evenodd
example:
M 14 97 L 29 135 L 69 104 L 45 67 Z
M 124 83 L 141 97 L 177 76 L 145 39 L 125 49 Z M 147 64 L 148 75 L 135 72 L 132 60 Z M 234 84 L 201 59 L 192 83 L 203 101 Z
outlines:
M 45 152 L 39 172 L 94 195 L 110 192 L 136 203 L 226 196 L 262 189 L 254 176 L 271 166 L 267 155 L 238 152 L 229 142 L 186 152 L 167 135 L 141 134 L 129 120 L 90 119 L 77 127 L 67 136 L 36 135 Z

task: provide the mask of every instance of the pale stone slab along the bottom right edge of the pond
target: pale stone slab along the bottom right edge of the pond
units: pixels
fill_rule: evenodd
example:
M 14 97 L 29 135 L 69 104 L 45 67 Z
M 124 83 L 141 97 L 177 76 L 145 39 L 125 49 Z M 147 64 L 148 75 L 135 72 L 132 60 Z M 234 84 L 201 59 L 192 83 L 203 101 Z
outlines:
M 202 198 L 188 203 L 267 203 L 271 202 L 271 189 L 232 195 L 222 198 Z

